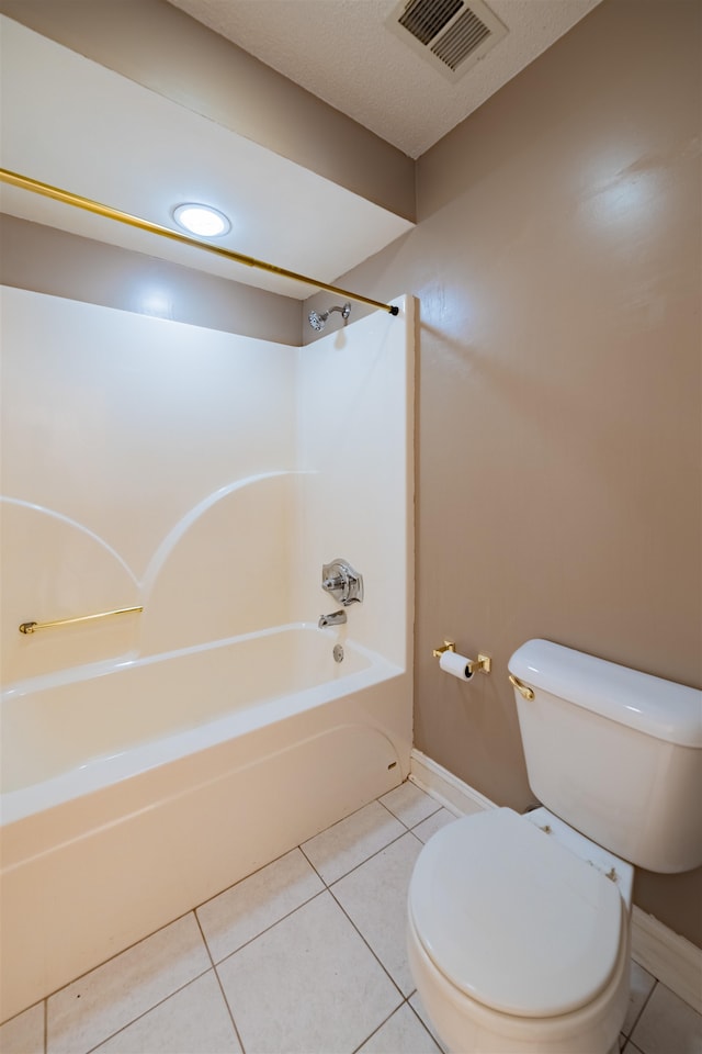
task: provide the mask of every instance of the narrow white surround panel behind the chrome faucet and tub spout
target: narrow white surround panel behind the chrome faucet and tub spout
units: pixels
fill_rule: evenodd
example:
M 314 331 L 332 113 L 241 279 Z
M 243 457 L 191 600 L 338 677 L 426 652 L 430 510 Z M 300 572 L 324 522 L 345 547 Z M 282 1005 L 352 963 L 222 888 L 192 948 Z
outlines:
M 340 557 L 364 579 L 363 604 L 338 631 L 411 666 L 414 616 L 414 300 L 301 348 L 298 463 L 303 559 L 297 590 L 315 616 L 321 564 Z M 353 309 L 352 309 L 353 312 Z M 352 314 L 353 317 L 353 314 Z M 332 315 L 333 319 L 335 316 Z

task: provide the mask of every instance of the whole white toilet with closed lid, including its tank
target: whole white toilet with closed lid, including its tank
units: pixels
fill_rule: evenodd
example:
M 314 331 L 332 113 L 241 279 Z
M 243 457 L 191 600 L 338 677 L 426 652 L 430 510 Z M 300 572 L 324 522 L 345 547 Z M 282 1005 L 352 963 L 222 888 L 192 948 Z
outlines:
M 543 807 L 466 816 L 427 842 L 410 969 L 451 1054 L 609 1054 L 634 865 L 702 864 L 702 692 L 547 640 L 509 670 Z

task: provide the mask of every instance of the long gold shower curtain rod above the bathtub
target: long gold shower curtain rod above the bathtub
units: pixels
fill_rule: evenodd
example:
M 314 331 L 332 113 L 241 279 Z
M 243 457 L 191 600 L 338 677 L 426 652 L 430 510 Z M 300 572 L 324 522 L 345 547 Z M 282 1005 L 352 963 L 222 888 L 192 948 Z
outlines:
M 359 293 L 350 293 L 348 289 L 340 289 L 338 285 L 320 282 L 316 278 L 307 278 L 307 276 L 298 274 L 296 271 L 288 271 L 284 267 L 276 267 L 274 264 L 257 260 L 256 257 L 244 256 L 244 254 L 235 253 L 233 249 L 225 249 L 218 245 L 200 242 L 197 238 L 191 238 L 186 234 L 179 234 L 178 231 L 171 231 L 170 227 L 163 227 L 161 224 L 141 220 L 140 216 L 132 216 L 127 212 L 121 212 L 118 209 L 112 209 L 110 205 L 103 205 L 99 201 L 92 201 L 92 199 L 83 198 L 81 194 L 72 194 L 68 190 L 61 190 L 60 187 L 42 183 L 38 179 L 31 179 L 29 176 L 21 176 L 19 172 L 11 172 L 7 168 L 0 168 L 0 180 L 9 183 L 11 187 L 29 190 L 33 194 L 53 198 L 55 201 L 61 201 L 66 205 L 73 205 L 76 209 L 84 209 L 86 212 L 95 213 L 98 216 L 106 216 L 107 220 L 126 223 L 128 226 L 137 227 L 139 231 L 148 231 L 149 234 L 157 234 L 161 238 L 170 238 L 171 242 L 180 242 L 181 245 L 194 245 L 195 248 L 206 249 L 207 253 L 215 253 L 217 256 L 222 256 L 227 260 L 234 260 L 235 264 L 244 264 L 247 267 L 253 267 L 260 271 L 268 271 L 269 274 L 279 274 L 281 278 L 290 278 L 292 281 L 304 282 L 306 285 L 316 285 L 318 289 L 324 289 L 328 293 L 338 293 L 348 300 L 355 300 L 361 304 L 369 304 L 371 307 L 380 307 L 382 311 L 387 311 L 390 315 L 396 315 L 399 312 L 399 307 L 394 304 L 384 304 L 378 300 L 361 296 Z

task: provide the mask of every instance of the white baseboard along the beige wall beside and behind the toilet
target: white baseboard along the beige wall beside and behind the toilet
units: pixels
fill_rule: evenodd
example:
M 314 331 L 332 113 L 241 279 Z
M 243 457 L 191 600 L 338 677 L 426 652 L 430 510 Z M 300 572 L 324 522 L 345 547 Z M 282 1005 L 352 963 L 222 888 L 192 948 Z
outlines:
M 456 816 L 496 805 L 419 750 L 410 755 L 409 778 Z M 632 958 L 702 1013 L 702 949 L 634 905 Z

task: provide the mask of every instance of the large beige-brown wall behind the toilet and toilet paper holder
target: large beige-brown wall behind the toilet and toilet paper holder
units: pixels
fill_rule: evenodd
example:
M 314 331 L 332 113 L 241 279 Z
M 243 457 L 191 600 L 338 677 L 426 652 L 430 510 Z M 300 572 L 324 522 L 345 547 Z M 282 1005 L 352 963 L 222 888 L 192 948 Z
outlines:
M 343 277 L 421 302 L 415 741 L 518 809 L 522 641 L 702 686 L 700 11 L 605 0 L 420 159 L 418 227 Z M 442 675 L 444 637 L 492 675 Z M 642 874 L 636 900 L 702 944 L 701 890 Z

